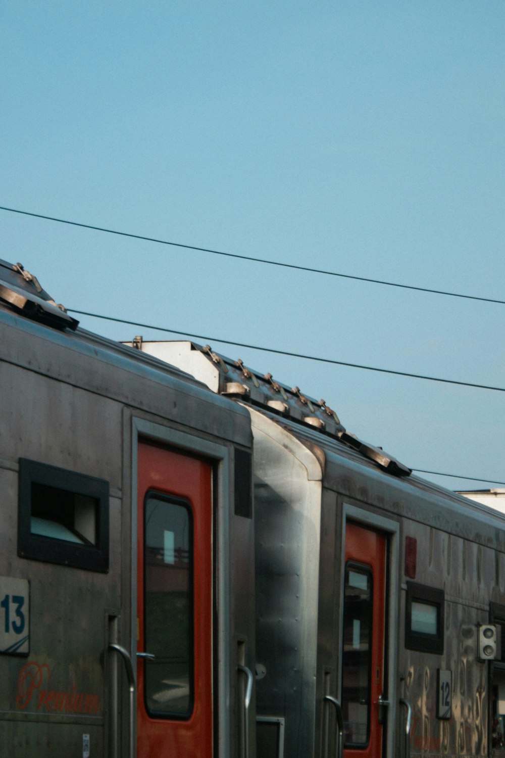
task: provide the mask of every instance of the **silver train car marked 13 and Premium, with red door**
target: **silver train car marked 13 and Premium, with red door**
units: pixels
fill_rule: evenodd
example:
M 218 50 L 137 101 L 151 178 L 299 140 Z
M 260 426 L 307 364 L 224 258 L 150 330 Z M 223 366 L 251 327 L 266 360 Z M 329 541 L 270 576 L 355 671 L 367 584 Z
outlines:
M 251 755 L 248 412 L 3 261 L 0 341 L 0 756 Z

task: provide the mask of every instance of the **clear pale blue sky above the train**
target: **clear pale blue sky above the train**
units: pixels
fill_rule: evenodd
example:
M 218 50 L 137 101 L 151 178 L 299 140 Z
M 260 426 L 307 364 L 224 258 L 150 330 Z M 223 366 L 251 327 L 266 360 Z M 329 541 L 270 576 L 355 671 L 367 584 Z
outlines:
M 504 33 L 501 0 L 0 0 L 0 205 L 503 300 Z M 503 305 L 0 224 L 69 309 L 505 387 Z M 407 465 L 505 481 L 503 393 L 212 346 Z

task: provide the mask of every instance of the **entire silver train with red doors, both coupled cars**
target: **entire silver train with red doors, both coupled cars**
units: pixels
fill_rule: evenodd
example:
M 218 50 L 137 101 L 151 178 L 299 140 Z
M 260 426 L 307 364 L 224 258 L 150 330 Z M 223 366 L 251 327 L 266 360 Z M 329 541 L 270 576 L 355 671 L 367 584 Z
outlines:
M 505 515 L 0 261 L 0 755 L 505 754 Z

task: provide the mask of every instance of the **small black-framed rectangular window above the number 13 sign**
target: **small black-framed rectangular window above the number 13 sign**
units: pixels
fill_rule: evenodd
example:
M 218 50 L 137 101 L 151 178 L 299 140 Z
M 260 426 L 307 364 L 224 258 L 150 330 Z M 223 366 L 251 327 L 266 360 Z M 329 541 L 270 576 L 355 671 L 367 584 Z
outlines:
M 104 479 L 20 458 L 18 555 L 107 572 L 108 501 Z

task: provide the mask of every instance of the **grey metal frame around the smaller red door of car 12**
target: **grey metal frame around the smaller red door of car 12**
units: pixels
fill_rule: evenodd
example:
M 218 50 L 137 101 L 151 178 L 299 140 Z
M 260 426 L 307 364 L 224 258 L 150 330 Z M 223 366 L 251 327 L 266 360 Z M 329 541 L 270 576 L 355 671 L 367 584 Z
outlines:
M 391 518 L 378 515 L 371 511 L 364 510 L 358 506 L 351 505 L 346 500 L 342 502 L 341 507 L 341 539 L 342 547 L 340 551 L 340 587 L 339 594 L 343 597 L 344 592 L 344 570 L 345 570 L 345 526 L 347 522 L 354 522 L 364 528 L 381 531 L 386 537 L 386 576 L 385 576 L 385 653 L 387 653 L 388 666 L 384 669 L 384 681 L 388 685 L 388 700 L 391 705 L 388 708 L 387 729 L 385 730 L 385 755 L 383 758 L 394 758 L 394 729 L 397 718 L 397 644 L 398 644 L 398 603 L 400 600 L 400 588 L 398 585 L 398 550 L 400 545 L 400 523 L 393 521 Z M 344 603 L 339 603 L 338 629 L 339 639 L 341 629 L 344 623 Z M 387 630 L 387 634 L 386 634 Z M 338 644 L 338 671 L 342 671 L 342 647 Z M 338 697 L 341 700 L 341 675 L 338 678 Z

